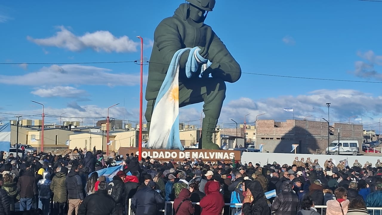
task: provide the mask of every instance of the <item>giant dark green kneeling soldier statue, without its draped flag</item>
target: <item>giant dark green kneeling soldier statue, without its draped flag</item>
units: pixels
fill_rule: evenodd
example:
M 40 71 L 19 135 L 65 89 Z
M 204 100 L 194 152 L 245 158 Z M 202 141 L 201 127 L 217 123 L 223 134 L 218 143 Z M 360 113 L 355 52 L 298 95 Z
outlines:
M 181 55 L 177 95 L 179 107 L 204 102 L 202 148 L 219 149 L 212 142 L 212 136 L 225 99 L 225 82 L 239 80 L 241 68 L 212 28 L 204 24 L 207 13 L 215 6 L 215 0 L 188 2 L 182 3 L 172 17 L 162 20 L 155 29 L 146 88 L 147 129 L 150 129 L 154 105 L 174 54 L 180 49 L 199 47 L 197 55 L 212 64 L 201 74 L 200 63 L 199 72 L 192 73 L 190 77 L 185 72 L 190 51 Z

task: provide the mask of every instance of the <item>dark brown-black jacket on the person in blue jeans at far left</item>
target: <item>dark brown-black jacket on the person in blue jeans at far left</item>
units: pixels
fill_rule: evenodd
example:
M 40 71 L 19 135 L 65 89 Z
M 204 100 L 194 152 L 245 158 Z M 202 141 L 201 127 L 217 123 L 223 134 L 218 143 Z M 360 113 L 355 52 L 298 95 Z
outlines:
M 31 171 L 26 171 L 19 178 L 17 188 L 20 191 L 20 198 L 34 198 L 37 193 L 37 182 Z

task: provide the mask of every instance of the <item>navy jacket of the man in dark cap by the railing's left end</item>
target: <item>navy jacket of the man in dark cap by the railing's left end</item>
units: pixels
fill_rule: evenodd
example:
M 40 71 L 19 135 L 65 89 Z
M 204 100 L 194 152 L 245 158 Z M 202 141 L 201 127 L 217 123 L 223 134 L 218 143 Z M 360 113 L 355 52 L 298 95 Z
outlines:
M 131 200 L 131 209 L 136 215 L 156 215 L 158 208 L 165 203 L 160 194 L 151 187 L 138 190 Z

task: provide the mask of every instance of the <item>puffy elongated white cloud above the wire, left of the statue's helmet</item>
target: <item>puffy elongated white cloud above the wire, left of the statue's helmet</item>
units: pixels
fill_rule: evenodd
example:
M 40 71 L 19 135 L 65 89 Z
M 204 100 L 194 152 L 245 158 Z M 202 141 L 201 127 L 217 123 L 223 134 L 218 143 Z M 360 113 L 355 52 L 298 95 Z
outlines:
M 87 32 L 83 36 L 76 36 L 64 26 L 60 26 L 59 29 L 52 37 L 34 39 L 27 36 L 27 39 L 40 46 L 55 46 L 70 51 L 91 48 L 97 52 L 136 52 L 139 45 L 138 41 L 133 41 L 126 35 L 116 37 L 109 31 Z

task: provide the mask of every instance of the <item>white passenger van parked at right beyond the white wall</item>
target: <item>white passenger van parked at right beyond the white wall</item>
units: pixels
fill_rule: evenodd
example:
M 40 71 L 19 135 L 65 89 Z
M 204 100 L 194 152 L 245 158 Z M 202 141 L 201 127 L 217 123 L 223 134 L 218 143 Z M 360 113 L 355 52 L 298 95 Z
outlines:
M 328 148 L 325 149 L 325 152 Z M 329 145 L 330 155 L 358 155 L 359 143 L 358 140 L 334 140 Z

